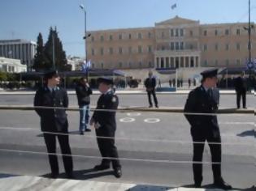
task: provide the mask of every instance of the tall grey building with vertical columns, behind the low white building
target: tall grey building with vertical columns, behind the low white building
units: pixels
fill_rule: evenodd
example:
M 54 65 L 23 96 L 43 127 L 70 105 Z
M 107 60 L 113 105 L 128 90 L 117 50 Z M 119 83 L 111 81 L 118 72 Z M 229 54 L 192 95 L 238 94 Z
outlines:
M 0 57 L 20 59 L 21 64 L 31 71 L 37 43 L 28 40 L 0 40 Z

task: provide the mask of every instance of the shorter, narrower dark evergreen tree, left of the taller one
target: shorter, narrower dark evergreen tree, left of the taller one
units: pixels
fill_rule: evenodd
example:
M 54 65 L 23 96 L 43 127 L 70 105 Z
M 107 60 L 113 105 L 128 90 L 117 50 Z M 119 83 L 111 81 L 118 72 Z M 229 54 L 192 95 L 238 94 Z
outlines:
M 35 55 L 33 69 L 36 71 L 41 71 L 45 70 L 46 68 L 50 68 L 50 66 L 46 66 L 47 64 L 49 64 L 49 62 L 46 60 L 43 38 L 41 36 L 41 32 L 39 32 L 39 35 L 37 36 L 37 53 Z

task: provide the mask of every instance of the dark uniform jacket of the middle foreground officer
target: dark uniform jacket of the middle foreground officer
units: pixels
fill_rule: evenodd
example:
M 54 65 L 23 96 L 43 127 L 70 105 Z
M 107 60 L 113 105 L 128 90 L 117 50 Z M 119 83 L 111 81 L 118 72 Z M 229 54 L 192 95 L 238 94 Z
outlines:
M 113 91 L 108 91 L 99 97 L 93 120 L 99 124 L 99 130 L 114 132 L 116 129 L 115 110 L 118 108 L 119 99 Z M 99 110 L 97 110 L 99 109 Z M 100 111 L 102 109 L 102 111 Z M 104 110 L 111 111 L 104 111 Z

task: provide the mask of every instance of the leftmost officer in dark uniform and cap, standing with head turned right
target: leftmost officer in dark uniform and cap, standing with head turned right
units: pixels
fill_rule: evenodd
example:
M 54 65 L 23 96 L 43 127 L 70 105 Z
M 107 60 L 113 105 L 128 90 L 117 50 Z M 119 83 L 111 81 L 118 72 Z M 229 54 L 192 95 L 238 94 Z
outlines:
M 45 79 L 46 85 L 36 92 L 34 106 L 41 118 L 41 131 L 48 151 L 51 177 L 57 178 L 59 176 L 58 158 L 55 155 L 56 138 L 58 138 L 67 178 L 73 178 L 72 152 L 67 135 L 67 114 L 64 109 L 68 106 L 67 91 L 58 87 L 60 80 L 58 71 L 52 70 L 46 73 Z

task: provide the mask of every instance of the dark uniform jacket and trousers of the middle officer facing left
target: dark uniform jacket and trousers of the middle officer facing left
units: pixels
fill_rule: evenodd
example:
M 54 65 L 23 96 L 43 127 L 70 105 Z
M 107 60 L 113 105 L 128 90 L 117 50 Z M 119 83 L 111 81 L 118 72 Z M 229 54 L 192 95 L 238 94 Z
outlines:
M 109 167 L 112 162 L 114 169 L 120 168 L 121 165 L 118 159 L 118 152 L 115 146 L 115 110 L 118 108 L 119 100 L 118 96 L 113 91 L 107 91 L 106 94 L 102 94 L 99 97 L 96 109 L 110 109 L 113 111 L 100 111 L 96 110 L 93 113 L 93 121 L 98 124 L 96 129 L 96 135 L 99 137 L 109 138 L 97 138 L 98 148 L 102 157 L 113 157 L 116 159 L 102 159 L 102 166 Z

